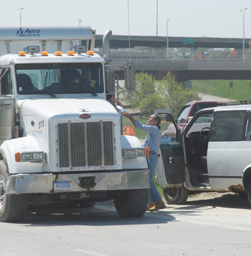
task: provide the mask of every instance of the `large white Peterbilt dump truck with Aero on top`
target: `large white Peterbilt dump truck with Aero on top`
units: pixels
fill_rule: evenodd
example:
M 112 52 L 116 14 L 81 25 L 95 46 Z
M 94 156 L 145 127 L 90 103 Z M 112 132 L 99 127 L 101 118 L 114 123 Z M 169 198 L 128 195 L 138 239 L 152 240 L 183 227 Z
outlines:
M 106 100 L 110 37 L 103 59 L 91 27 L 0 29 L 0 221 L 22 220 L 28 200 L 145 213 L 147 150 Z

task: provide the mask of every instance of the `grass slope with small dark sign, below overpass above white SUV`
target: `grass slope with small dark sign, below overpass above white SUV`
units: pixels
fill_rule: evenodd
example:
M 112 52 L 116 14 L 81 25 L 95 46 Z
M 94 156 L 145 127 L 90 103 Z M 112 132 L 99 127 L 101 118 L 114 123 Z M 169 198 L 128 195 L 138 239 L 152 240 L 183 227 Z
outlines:
M 233 90 L 228 88 L 229 81 L 233 82 Z M 227 99 L 251 99 L 251 84 L 249 85 L 246 80 L 192 80 L 191 89 Z

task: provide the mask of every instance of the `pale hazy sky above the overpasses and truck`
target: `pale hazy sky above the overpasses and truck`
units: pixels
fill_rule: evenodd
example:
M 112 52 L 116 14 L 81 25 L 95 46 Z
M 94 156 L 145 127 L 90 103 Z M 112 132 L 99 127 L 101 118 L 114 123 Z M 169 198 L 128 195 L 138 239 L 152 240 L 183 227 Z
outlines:
M 158 11 L 157 11 L 158 2 Z M 1 27 L 92 26 L 97 35 L 251 38 L 250 0 L 9 0 Z M 158 19 L 157 19 L 158 14 Z M 130 28 L 130 32 L 129 29 Z

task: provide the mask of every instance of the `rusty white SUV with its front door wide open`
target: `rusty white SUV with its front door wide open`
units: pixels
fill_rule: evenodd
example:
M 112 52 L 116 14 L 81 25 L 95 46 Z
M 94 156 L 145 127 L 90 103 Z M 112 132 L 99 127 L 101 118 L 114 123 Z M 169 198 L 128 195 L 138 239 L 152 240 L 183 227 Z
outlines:
M 197 112 L 182 135 L 170 111 L 155 112 L 165 115 L 176 133 L 163 136 L 156 170 L 167 203 L 185 203 L 189 193 L 231 191 L 251 204 L 249 101 Z

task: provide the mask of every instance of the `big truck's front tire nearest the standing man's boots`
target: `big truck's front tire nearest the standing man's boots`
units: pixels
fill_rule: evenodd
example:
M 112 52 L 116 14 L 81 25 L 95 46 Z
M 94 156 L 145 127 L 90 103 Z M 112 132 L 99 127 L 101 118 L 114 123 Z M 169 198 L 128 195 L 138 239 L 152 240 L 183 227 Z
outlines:
M 121 217 L 142 217 L 145 214 L 149 188 L 125 190 L 123 196 L 114 197 L 114 205 Z

